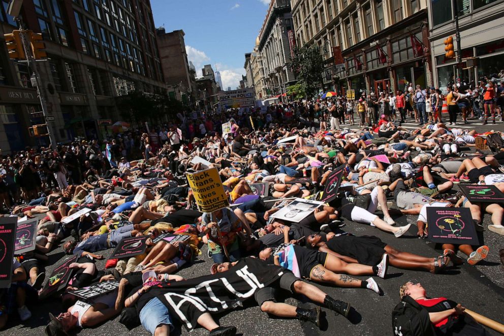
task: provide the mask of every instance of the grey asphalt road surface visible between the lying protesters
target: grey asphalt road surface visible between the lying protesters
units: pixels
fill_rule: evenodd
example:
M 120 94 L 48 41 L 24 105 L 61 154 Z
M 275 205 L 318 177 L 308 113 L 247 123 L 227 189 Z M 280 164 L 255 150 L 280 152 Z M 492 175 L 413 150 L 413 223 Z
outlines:
M 476 123 L 475 123 L 476 124 Z M 473 125 L 471 127 L 476 127 Z M 502 123 L 497 127 L 492 125 L 479 126 L 479 132 L 485 132 L 486 128 L 501 129 Z M 414 224 L 416 216 L 402 216 L 396 218 L 398 225 L 406 222 Z M 416 238 L 414 225 L 409 232 L 401 238 L 382 232 L 367 225 L 345 221 L 346 231 L 357 235 L 375 235 L 383 241 L 402 251 L 412 252 L 427 257 L 438 256 L 441 252 L 434 250 L 434 245 L 426 240 Z M 490 224 L 489 216 L 484 217 L 484 226 Z M 407 281 L 420 282 L 427 289 L 427 294 L 432 297 L 445 296 L 462 303 L 463 306 L 485 315 L 491 319 L 504 323 L 504 267 L 500 264 L 498 251 L 504 248 L 503 237 L 489 230 L 484 232 L 485 244 L 490 248 L 490 254 L 485 261 L 477 266 L 464 264 L 459 267 L 450 267 L 445 274 L 433 275 L 428 272 L 410 271 L 389 267 L 386 279 L 375 277 L 376 282 L 383 290 L 383 295 L 364 289 L 343 289 L 333 286 L 315 284 L 332 297 L 348 301 L 354 310 L 346 320 L 341 316 L 336 316 L 333 312 L 323 309 L 326 313 L 326 325 L 319 330 L 311 323 L 299 322 L 298 320 L 286 320 L 279 318 L 269 318 L 262 313 L 255 302 L 250 302 L 249 306 L 230 312 L 224 316 L 216 316 L 216 320 L 221 325 L 234 325 L 238 333 L 243 335 L 391 335 L 391 313 L 394 306 L 400 301 L 399 287 Z M 185 278 L 194 278 L 209 273 L 212 264 L 211 259 L 206 256 L 206 246 L 202 248 L 202 255 L 197 258 L 195 264 L 185 267 L 178 274 Z M 104 251 L 107 258 L 112 253 L 112 249 Z M 64 258 L 65 255 L 61 247 L 52 251 L 50 262 Z M 460 255 L 460 254 L 459 254 Z M 464 256 L 460 255 L 464 258 Z M 106 259 L 105 258 L 105 259 Z M 57 263 L 57 262 L 56 262 Z M 97 266 L 103 268 L 105 261 L 98 261 Z M 50 274 L 53 265 L 47 266 L 45 271 Z M 366 279 L 367 277 L 360 277 Z M 47 279 L 46 279 L 47 281 Z M 292 298 L 286 295 L 286 302 L 291 304 L 302 304 L 306 307 L 313 307 L 313 303 L 306 302 L 304 297 Z M 20 324 L 16 318 L 11 319 L 7 328 L 0 331 L 0 336 L 10 335 L 43 335 L 44 326 L 48 323 L 48 313 L 57 315 L 61 311 L 60 303 L 56 299 L 39 302 L 35 307 L 29 307 L 33 316 L 26 323 Z M 108 321 L 92 329 L 83 329 L 77 332 L 79 335 L 148 335 L 143 327 L 137 327 L 128 331 L 118 322 L 118 318 Z M 498 334 L 492 331 L 493 334 Z M 175 334 L 188 334 L 188 332 L 177 326 Z M 205 335 L 208 332 L 198 328 L 190 332 L 192 335 Z

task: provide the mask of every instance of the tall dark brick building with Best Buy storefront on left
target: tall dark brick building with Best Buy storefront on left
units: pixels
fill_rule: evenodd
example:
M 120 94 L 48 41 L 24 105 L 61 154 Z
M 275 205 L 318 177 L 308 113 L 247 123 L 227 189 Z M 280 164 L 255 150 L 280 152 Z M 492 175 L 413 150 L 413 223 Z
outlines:
M 6 7 L 0 8 L 2 39 L 17 28 Z M 21 17 L 46 45 L 48 58 L 38 66 L 56 141 L 102 135 L 106 124 L 121 120 L 117 97 L 166 93 L 148 0 L 24 0 Z M 47 143 L 28 134 L 44 123 L 31 70 L 9 59 L 3 40 L 0 58 L 0 146 L 7 152 Z

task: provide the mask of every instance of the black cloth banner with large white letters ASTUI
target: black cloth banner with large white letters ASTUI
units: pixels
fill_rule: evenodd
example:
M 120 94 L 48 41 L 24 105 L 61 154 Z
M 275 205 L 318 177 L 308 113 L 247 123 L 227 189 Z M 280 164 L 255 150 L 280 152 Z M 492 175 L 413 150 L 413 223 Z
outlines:
M 166 304 L 172 317 L 192 329 L 203 313 L 222 313 L 241 307 L 244 300 L 285 272 L 288 270 L 260 259 L 244 258 L 228 271 L 157 284 L 150 291 Z

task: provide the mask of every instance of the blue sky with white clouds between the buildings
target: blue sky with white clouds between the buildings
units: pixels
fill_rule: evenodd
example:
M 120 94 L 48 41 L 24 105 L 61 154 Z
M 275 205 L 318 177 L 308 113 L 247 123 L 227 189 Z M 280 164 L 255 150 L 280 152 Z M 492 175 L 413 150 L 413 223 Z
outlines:
M 269 0 L 150 0 L 154 25 L 167 33 L 182 29 L 188 60 L 201 69 L 211 64 L 223 86 L 235 89 L 245 74 Z

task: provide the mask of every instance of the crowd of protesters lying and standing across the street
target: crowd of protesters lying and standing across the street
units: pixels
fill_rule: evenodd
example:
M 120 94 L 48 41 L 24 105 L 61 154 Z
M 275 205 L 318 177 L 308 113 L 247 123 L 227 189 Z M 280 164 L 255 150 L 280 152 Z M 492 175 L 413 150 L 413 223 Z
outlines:
M 175 273 L 193 267 L 202 245 L 207 245 L 208 255 L 200 258 L 213 261 L 208 274 L 214 277 L 226 278 L 243 260 L 273 273 L 283 267 L 278 279 L 244 297 L 255 299 L 268 314 L 318 326 L 320 308 L 279 303 L 276 291 L 304 294 L 348 317 L 350 303 L 310 282 L 367 289 L 369 295 L 377 295 L 381 289 L 376 279 L 387 277 L 389 265 L 436 274 L 451 265 L 478 264 L 490 253 L 483 230 L 504 235 L 504 208 L 498 202 L 471 202 L 454 186 L 491 185 L 504 192 L 504 151 L 495 139 L 504 142 L 501 132 L 479 134 L 454 126 L 458 109 L 463 121 L 483 117 L 484 123 L 488 118 L 495 123 L 502 116 L 503 91 L 504 82 L 497 85 L 491 80 L 477 87 L 449 88 L 450 124 L 442 117 L 442 93 L 417 86 L 395 95 L 364 95 L 356 104 L 340 97 L 262 109 L 193 112 L 178 115 L 170 125 L 147 132 L 133 130 L 102 144 L 79 139 L 55 149 L 26 148 L 4 155 L 2 216 L 38 217 L 39 221 L 35 250 L 15 257 L 12 284 L 0 290 L 0 328 L 16 318 L 30 318 L 29 307 L 44 284 L 48 254 L 58 246 L 76 260 L 70 265 L 68 285 L 52 293 L 62 313 L 50 315 L 45 329 L 50 336 L 93 327 L 119 314 L 125 325 L 141 324 L 153 335 L 169 334 L 174 320 L 181 317 L 162 299 L 170 292 L 163 284 L 186 281 Z M 353 127 L 355 112 L 359 127 Z M 418 121 L 418 128 L 402 127 L 406 118 Z M 223 134 L 226 123 L 230 128 Z M 342 127 L 345 123 L 350 126 Z M 468 150 L 474 149 L 476 138 L 490 136 L 492 154 Z M 200 212 L 198 195 L 184 174 L 213 168 L 230 206 Z M 342 170 L 343 181 L 334 198 L 300 221 L 275 216 L 295 200 L 322 199 L 328 178 L 337 169 Z M 262 193 L 255 184 L 265 186 Z M 408 230 L 413 232 L 411 224 L 395 222 L 408 216 L 416 218 L 416 234 L 424 238 L 429 207 L 470 209 L 472 223 L 467 224 L 476 228 L 479 245 L 442 243 L 437 255 L 417 255 L 375 236 L 344 231 L 345 223 L 369 225 L 401 239 Z M 84 208 L 90 212 L 65 220 Z M 485 213 L 492 223 L 486 228 Z M 156 239 L 166 233 L 184 237 L 174 242 Z M 102 251 L 138 236 L 147 236 L 145 253 L 108 260 L 105 269 L 98 269 Z M 367 279 L 355 278 L 362 276 Z M 72 294 L 114 280 L 118 288 L 96 299 Z M 430 307 L 420 284 L 408 282 L 400 294 Z M 433 327 L 464 314 L 460 304 L 449 303 L 443 313 L 431 314 Z M 211 335 L 237 332 L 233 326 L 219 326 L 212 310 L 198 307 L 190 311 L 196 314 L 191 319 Z

